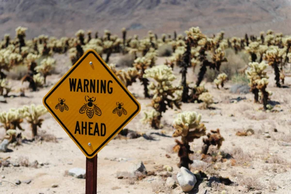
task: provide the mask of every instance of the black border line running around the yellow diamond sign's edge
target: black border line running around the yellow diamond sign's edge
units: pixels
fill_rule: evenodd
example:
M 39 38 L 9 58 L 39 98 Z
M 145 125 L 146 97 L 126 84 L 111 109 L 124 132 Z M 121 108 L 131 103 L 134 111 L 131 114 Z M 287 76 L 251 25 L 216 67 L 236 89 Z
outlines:
M 86 152 L 86 150 L 83 148 L 83 146 L 79 143 L 79 141 L 77 141 L 77 139 L 73 136 L 73 134 L 67 129 L 67 127 L 65 126 L 65 124 L 59 119 L 59 117 L 54 113 L 54 111 L 49 107 L 48 103 L 47 103 L 47 99 L 49 98 L 49 96 L 66 80 L 66 78 L 81 64 L 81 62 L 88 56 L 88 54 L 94 54 L 94 56 L 98 59 L 98 61 L 103 65 L 103 67 L 111 74 L 111 76 L 114 78 L 114 80 L 119 84 L 119 86 L 125 91 L 125 93 L 129 96 L 129 98 L 134 102 L 134 104 L 137 106 L 137 109 L 129 116 L 129 118 L 122 123 L 114 132 L 113 134 L 111 134 L 92 154 L 88 154 Z M 59 82 L 59 84 L 53 88 L 49 94 L 46 96 L 46 98 L 44 99 L 44 103 L 45 105 L 49 108 L 50 112 L 55 116 L 55 118 L 63 125 L 63 127 L 65 128 L 65 130 L 67 131 L 68 134 L 70 134 L 70 136 L 74 139 L 74 141 L 81 147 L 81 149 L 83 150 L 83 152 L 89 156 L 89 157 L 93 157 L 95 155 L 96 152 L 98 152 L 101 147 L 106 144 L 139 110 L 140 110 L 140 106 L 139 104 L 136 102 L 136 100 L 134 98 L 132 98 L 132 96 L 129 94 L 129 92 L 127 91 L 127 89 L 125 89 L 122 84 L 119 82 L 119 80 L 113 75 L 113 73 L 109 70 L 109 68 L 107 67 L 107 65 L 105 65 L 102 60 L 100 60 L 100 58 L 96 55 L 96 53 L 94 53 L 93 51 L 89 51 L 88 53 L 86 53 L 86 55 L 83 55 L 81 60 L 75 64 L 73 66 L 73 68 L 65 75 L 65 77 L 62 79 L 62 81 Z

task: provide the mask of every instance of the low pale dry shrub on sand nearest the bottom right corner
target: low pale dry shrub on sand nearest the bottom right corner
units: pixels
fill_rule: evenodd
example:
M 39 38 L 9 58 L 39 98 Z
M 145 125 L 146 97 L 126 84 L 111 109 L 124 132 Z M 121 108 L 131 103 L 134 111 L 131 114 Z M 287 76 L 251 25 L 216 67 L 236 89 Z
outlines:
M 238 176 L 238 183 L 239 185 L 245 187 L 249 191 L 263 189 L 263 184 L 260 182 L 259 177 L 257 176 L 247 176 L 247 177 Z

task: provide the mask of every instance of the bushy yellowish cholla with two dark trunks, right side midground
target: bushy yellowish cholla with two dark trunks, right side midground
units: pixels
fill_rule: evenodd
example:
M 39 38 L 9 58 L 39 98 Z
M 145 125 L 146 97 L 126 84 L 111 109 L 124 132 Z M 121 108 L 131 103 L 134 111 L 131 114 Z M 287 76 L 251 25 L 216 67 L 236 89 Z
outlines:
M 268 107 L 268 98 L 272 94 L 267 90 L 268 86 L 268 76 L 265 71 L 268 67 L 268 64 L 263 62 L 251 62 L 249 63 L 249 70 L 246 71 L 246 75 L 250 81 L 249 86 L 251 87 L 251 91 L 254 94 L 255 103 L 259 102 L 259 91 L 262 94 L 262 101 L 264 105 L 264 109 L 266 110 Z

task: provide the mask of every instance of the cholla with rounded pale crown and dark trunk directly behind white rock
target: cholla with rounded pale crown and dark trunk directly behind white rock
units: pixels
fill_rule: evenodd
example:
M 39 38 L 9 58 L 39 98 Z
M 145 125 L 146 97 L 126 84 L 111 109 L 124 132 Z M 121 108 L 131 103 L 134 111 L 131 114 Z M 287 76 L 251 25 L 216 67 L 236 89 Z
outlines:
M 206 131 L 204 123 L 200 123 L 200 121 L 201 114 L 190 111 L 179 113 L 178 117 L 174 120 L 173 126 L 176 130 L 173 137 L 181 136 L 181 142 L 176 140 L 179 146 L 179 168 L 183 166 L 189 169 L 189 164 L 193 163 L 193 161 L 189 159 L 189 154 L 194 153 L 190 150 L 189 142 L 204 136 Z

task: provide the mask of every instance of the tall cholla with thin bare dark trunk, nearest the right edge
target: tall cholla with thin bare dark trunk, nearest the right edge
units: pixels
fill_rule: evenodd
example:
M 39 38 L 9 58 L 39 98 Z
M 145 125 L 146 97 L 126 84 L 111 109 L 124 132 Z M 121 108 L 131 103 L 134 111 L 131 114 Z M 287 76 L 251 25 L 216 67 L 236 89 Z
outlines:
M 275 81 L 278 88 L 281 87 L 279 64 L 282 61 L 283 54 L 284 53 L 281 52 L 277 46 L 270 46 L 264 55 L 264 59 L 268 61 L 268 64 L 272 66 L 275 71 Z

